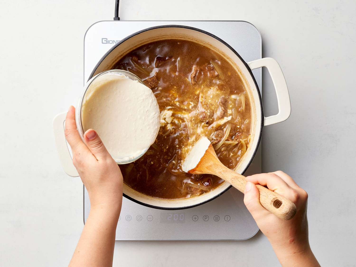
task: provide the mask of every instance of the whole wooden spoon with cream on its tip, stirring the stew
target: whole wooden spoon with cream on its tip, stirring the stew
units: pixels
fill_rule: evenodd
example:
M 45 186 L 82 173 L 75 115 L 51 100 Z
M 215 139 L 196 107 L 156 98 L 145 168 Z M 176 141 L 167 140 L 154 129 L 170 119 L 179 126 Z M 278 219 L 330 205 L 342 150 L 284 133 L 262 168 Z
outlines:
M 190 150 L 188 156 L 184 159 L 183 171 L 193 174 L 216 175 L 242 193 L 245 192 L 246 177 L 225 167 L 219 161 L 213 146 L 206 137 L 201 138 Z M 256 184 L 256 186 L 260 191 L 260 202 L 263 207 L 283 220 L 293 218 L 297 208 L 292 201 L 260 184 Z

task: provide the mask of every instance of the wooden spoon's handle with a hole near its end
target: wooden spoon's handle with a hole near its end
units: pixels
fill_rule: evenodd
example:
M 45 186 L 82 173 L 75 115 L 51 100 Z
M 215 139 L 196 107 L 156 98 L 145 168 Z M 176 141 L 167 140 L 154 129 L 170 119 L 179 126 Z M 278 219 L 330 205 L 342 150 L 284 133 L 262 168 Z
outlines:
M 225 167 L 225 166 L 224 166 Z M 221 168 L 219 174 L 226 182 L 230 183 L 233 187 L 239 189 L 242 193 L 245 192 L 246 179 L 239 173 L 231 171 L 229 168 Z M 262 206 L 283 220 L 292 219 L 297 211 L 295 204 L 287 198 L 256 184 L 258 191 L 260 191 L 260 202 Z

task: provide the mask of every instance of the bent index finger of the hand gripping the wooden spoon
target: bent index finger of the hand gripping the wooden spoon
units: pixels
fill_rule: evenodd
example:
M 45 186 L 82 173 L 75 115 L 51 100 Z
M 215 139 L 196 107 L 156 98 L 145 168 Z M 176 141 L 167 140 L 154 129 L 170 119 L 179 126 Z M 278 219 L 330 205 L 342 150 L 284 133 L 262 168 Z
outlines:
M 269 190 L 282 194 L 288 192 L 291 187 L 275 173 L 260 173 L 246 177 L 249 182 L 267 186 Z

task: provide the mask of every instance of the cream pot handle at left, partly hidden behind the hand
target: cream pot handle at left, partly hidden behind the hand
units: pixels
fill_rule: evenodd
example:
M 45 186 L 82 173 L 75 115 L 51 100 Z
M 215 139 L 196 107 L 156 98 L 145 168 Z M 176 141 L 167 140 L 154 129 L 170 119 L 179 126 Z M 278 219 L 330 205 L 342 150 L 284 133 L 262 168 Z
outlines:
M 67 146 L 66 136 L 64 135 L 64 122 L 66 121 L 66 116 L 67 112 L 63 112 L 53 119 L 54 141 L 56 142 L 59 161 L 61 161 L 64 172 L 69 176 L 78 177 L 79 174 L 73 165 L 72 157 L 70 157 Z

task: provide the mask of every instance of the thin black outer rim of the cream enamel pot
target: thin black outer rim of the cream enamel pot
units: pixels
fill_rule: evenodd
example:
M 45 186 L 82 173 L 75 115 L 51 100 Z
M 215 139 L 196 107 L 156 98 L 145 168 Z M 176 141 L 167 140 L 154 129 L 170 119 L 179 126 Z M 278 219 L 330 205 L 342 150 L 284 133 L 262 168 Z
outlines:
M 248 164 L 246 165 L 244 171 L 241 172 L 241 174 L 244 174 L 246 172 L 246 170 L 248 169 L 248 167 L 250 167 L 252 161 L 253 161 L 253 158 L 255 158 L 255 155 L 257 153 L 257 150 L 258 150 L 258 147 L 260 146 L 260 143 L 261 143 L 261 138 L 262 138 L 262 130 L 263 130 L 263 118 L 264 118 L 264 115 L 263 115 L 263 105 L 262 105 L 262 97 L 261 97 L 261 93 L 260 93 L 260 88 L 258 87 L 257 85 L 257 82 L 256 82 L 256 79 L 255 79 L 255 76 L 253 76 L 253 73 L 252 73 L 252 70 L 250 69 L 250 67 L 248 67 L 248 64 L 246 63 L 246 61 L 240 56 L 239 53 L 237 53 L 235 51 L 234 48 L 232 48 L 228 43 L 226 43 L 224 40 L 222 40 L 221 38 L 219 38 L 218 36 L 216 35 L 213 35 L 212 33 L 210 32 L 207 32 L 207 31 L 204 31 L 204 30 L 201 30 L 199 28 L 195 28 L 195 27 L 190 27 L 190 26 L 185 26 L 185 25 L 160 25 L 160 26 L 153 26 L 153 27 L 149 27 L 149 28 L 145 28 L 143 30 L 140 30 L 140 31 L 137 31 L 135 33 L 132 33 L 131 35 L 125 37 L 124 39 L 120 40 L 119 42 L 117 42 L 114 46 L 112 46 L 108 52 L 106 52 L 104 54 L 103 57 L 101 57 L 101 59 L 99 60 L 99 62 L 95 65 L 93 71 L 90 73 L 89 75 L 89 79 L 88 81 L 93 77 L 94 73 L 96 72 L 96 69 L 98 69 L 98 67 L 100 66 L 100 64 L 104 61 L 104 59 L 116 48 L 118 47 L 119 45 L 121 45 L 123 42 L 129 40 L 131 37 L 133 36 L 136 36 L 142 32 L 146 32 L 146 31 L 150 31 L 150 30 L 155 30 L 155 29 L 158 29 L 158 28 L 185 28 L 185 29 L 188 29 L 188 30 L 193 30 L 193 31 L 198 31 L 198 32 L 201 32 L 201 33 L 204 33 L 210 37 L 213 37 L 215 38 L 216 40 L 218 40 L 219 42 L 223 43 L 223 45 L 225 45 L 227 48 L 229 48 L 240 60 L 241 62 L 245 65 L 248 73 L 250 73 L 251 75 L 251 78 L 253 80 L 253 83 L 255 83 L 255 86 L 256 86 L 256 89 L 257 89 L 257 95 L 258 95 L 258 100 L 260 101 L 260 106 L 261 106 L 261 130 L 260 130 L 260 133 L 258 135 L 258 139 L 257 139 L 257 146 L 255 148 L 255 151 L 253 151 L 253 154 L 252 154 L 252 157 L 250 159 L 250 161 L 248 162 Z M 214 195 L 214 197 L 211 197 L 209 198 L 208 200 L 205 200 L 203 202 L 200 202 L 200 203 L 197 203 L 197 204 L 194 204 L 194 205 L 190 205 L 190 206 L 183 206 L 183 207 L 176 207 L 176 208 L 168 208 L 168 207 L 161 207 L 161 206 L 155 206 L 155 205 L 150 205 L 150 204 L 147 204 L 147 203 L 144 203 L 144 202 L 141 202 L 139 200 L 136 200 L 134 198 L 131 198 L 129 197 L 128 195 L 126 195 L 125 193 L 122 193 L 122 195 L 127 198 L 127 199 L 130 199 L 131 201 L 137 203 L 137 204 L 141 204 L 143 206 L 146 206 L 146 207 L 149 207 L 149 208 L 154 208 L 154 209 L 160 209 L 160 210 L 183 210 L 183 209 L 190 209 L 190 208 L 194 208 L 196 206 L 199 206 L 199 205 L 203 205 L 205 203 L 208 203 L 209 201 L 211 200 L 214 200 L 218 197 L 220 197 L 222 194 L 224 194 L 227 190 L 229 190 L 230 188 L 232 187 L 232 185 L 230 185 L 229 187 L 227 187 L 225 190 L 223 190 L 222 192 L 220 192 L 219 194 L 217 195 Z

